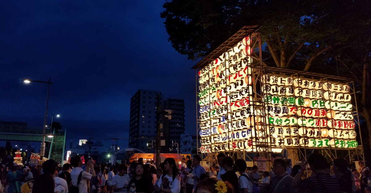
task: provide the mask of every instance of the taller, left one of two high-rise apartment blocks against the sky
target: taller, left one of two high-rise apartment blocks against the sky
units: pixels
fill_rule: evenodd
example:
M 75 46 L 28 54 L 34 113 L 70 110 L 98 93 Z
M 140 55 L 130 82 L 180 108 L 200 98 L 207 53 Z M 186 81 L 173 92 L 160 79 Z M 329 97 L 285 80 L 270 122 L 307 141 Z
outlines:
M 137 148 L 145 153 L 154 153 L 155 148 L 148 149 L 148 140 L 157 136 L 157 98 L 160 91 L 138 90 L 130 100 L 129 148 Z

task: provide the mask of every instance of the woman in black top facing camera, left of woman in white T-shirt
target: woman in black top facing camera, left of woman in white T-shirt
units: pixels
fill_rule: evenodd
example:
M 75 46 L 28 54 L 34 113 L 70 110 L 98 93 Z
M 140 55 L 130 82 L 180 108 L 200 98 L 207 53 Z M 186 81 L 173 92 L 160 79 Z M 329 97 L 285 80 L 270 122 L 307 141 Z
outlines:
M 127 191 L 132 193 L 152 193 L 152 179 L 149 178 L 148 171 L 144 169 L 144 164 L 138 163 L 134 168 L 134 177 L 129 181 Z

